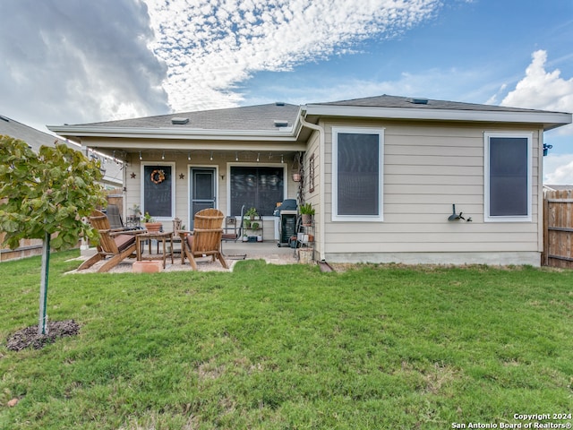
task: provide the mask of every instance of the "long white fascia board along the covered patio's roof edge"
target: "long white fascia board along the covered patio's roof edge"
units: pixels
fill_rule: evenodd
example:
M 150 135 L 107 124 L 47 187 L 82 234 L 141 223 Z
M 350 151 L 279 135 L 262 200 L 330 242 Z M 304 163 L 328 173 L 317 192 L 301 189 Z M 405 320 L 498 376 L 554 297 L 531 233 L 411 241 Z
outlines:
M 47 125 L 48 130 L 59 135 L 81 137 L 112 137 L 133 139 L 193 139 L 205 141 L 295 141 L 294 127 L 281 127 L 278 131 L 266 130 L 204 130 L 196 128 L 136 128 L 94 127 L 81 125 Z

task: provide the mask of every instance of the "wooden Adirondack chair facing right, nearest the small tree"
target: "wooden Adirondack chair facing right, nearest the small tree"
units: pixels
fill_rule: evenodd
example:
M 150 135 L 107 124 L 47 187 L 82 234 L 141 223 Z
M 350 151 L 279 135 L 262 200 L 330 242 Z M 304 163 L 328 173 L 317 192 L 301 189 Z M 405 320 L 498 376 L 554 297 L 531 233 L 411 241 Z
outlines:
M 90 224 L 98 230 L 98 252 L 85 262 L 82 262 L 78 271 L 90 268 L 96 262 L 110 257 L 98 272 L 109 271 L 136 251 L 135 236 L 145 233 L 145 230 L 124 230 L 124 228 L 110 228 L 109 219 L 105 213 L 93 211 L 90 215 Z

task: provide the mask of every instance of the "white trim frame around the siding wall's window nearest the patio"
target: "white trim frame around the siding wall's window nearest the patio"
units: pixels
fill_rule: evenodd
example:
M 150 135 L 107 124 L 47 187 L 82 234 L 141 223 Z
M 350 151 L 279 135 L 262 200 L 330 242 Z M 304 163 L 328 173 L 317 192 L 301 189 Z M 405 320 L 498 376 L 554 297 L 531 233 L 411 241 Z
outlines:
M 332 127 L 332 221 L 381 222 L 384 220 L 384 128 Z M 378 134 L 378 215 L 338 215 L 338 133 Z

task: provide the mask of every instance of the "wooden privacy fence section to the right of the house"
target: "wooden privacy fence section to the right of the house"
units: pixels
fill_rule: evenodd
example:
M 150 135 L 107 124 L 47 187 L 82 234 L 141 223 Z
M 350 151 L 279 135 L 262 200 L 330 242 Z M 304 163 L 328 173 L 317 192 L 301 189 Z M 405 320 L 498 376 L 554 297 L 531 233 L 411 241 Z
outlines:
M 573 268 L 573 190 L 546 191 L 543 202 L 542 265 Z

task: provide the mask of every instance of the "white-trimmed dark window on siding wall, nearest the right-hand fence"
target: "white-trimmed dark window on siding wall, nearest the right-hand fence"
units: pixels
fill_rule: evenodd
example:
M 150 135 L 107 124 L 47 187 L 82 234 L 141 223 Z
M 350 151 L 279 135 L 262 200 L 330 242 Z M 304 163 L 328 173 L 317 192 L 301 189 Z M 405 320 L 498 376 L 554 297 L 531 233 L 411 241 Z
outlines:
M 485 221 L 531 220 L 531 133 L 485 133 Z

